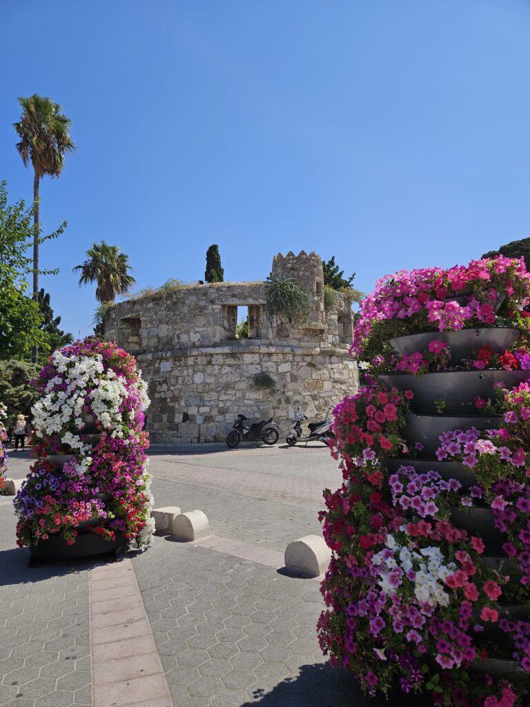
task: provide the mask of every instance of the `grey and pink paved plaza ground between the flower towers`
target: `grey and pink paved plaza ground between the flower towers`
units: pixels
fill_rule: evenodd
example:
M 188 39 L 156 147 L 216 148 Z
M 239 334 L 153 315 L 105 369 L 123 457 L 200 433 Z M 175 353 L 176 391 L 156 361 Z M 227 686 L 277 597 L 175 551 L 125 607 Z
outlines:
M 10 457 L 23 478 L 28 452 Z M 0 497 L 0 705 L 367 706 L 320 653 L 319 581 L 281 569 L 341 484 L 329 452 L 160 447 L 150 471 L 155 505 L 203 510 L 210 537 L 30 569 Z

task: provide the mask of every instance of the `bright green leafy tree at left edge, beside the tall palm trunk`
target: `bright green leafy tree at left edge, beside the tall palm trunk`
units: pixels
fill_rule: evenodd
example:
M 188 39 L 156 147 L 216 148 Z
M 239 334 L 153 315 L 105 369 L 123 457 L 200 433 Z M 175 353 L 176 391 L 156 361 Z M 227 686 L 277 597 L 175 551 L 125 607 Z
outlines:
M 6 182 L 0 183 L 0 359 L 22 358 L 33 347 L 49 350 L 47 333 L 42 327 L 38 303 L 28 297 L 28 275 L 33 273 L 33 259 L 26 255 L 28 247 L 50 238 L 58 238 L 66 228 L 62 223 L 54 233 L 42 236 L 40 226 L 33 223 L 33 209 L 20 199 L 8 204 Z M 57 274 L 41 270 L 40 274 Z

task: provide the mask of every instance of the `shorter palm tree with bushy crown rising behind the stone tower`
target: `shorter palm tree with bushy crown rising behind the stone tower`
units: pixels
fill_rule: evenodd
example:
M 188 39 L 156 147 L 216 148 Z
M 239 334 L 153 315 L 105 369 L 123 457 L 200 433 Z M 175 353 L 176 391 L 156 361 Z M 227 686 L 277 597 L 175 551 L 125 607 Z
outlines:
M 97 283 L 95 297 L 98 302 L 114 302 L 117 295 L 129 292 L 136 280 L 127 272 L 131 270 L 129 256 L 122 253 L 117 245 L 109 245 L 104 240 L 94 243 L 86 252 L 87 259 L 76 265 L 73 271 L 81 271 L 79 286 Z

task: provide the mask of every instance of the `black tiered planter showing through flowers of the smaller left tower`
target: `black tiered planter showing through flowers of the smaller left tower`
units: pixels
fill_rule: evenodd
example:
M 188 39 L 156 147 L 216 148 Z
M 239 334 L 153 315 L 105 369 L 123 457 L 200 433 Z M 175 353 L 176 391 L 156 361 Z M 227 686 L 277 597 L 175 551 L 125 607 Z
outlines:
M 83 422 L 85 423 L 82 435 L 83 441 L 94 447 L 100 440 L 100 434 L 95 428 L 95 420 L 91 415 L 83 416 Z M 75 459 L 75 455 L 72 454 L 48 455 L 47 457 L 42 457 L 43 461 L 52 464 L 57 470 L 62 469 L 66 462 L 73 459 Z M 112 501 L 112 495 L 110 493 L 95 493 L 93 498 L 99 498 L 100 501 L 103 501 L 105 504 Z M 69 545 L 66 540 L 59 535 L 52 535 L 47 540 L 40 540 L 36 545 L 30 544 L 30 553 L 33 556 L 30 561 L 30 566 L 37 565 L 42 559 L 73 559 L 103 553 L 112 553 L 116 558 L 129 542 L 128 539 L 124 537 L 124 534 L 115 530 L 114 534 L 116 535 L 116 539 L 109 541 L 103 539 L 98 533 L 90 532 L 90 528 L 95 525 L 106 526 L 109 523 L 110 519 L 84 520 L 76 529 L 78 530 L 78 535 L 73 545 Z

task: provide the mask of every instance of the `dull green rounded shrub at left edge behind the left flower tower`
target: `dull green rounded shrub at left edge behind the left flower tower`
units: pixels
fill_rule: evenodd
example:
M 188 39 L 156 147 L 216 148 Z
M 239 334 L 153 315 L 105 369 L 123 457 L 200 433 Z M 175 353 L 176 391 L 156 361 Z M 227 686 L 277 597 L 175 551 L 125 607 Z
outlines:
M 33 300 L 30 300 L 33 301 Z M 31 406 L 38 394 L 30 382 L 37 378 L 40 366 L 28 361 L 0 361 L 0 402 L 7 412 L 6 426 L 18 414 L 31 416 Z

